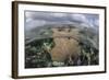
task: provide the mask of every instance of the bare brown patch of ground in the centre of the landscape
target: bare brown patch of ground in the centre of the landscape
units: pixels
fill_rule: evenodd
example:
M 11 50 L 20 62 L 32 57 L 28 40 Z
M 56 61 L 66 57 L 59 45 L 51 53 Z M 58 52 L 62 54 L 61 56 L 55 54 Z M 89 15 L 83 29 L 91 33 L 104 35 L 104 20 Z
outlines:
M 69 32 L 69 28 L 64 28 L 64 31 L 58 31 L 58 28 L 52 28 L 55 37 L 56 46 L 51 50 L 51 58 L 53 61 L 64 61 L 71 56 L 76 57 L 80 53 L 78 42 L 78 32 L 77 30 L 72 30 Z M 56 36 L 72 36 L 70 37 L 56 37 Z

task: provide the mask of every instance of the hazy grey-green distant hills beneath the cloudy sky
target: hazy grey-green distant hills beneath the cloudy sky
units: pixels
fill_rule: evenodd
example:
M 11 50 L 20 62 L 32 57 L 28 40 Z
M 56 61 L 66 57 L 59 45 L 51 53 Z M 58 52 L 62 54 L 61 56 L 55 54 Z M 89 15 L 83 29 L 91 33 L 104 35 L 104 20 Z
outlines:
M 89 26 L 80 26 L 78 24 L 47 24 L 44 26 L 37 26 L 33 30 L 25 31 L 25 39 L 29 42 L 41 37 L 52 36 L 51 28 L 76 28 L 82 41 L 88 39 L 96 48 L 98 47 L 98 31 Z M 74 34 L 73 32 L 71 33 Z

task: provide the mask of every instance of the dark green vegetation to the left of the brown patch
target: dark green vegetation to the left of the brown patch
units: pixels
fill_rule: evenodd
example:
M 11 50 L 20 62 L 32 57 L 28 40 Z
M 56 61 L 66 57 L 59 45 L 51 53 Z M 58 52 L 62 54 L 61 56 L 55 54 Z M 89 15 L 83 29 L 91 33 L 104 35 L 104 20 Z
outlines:
M 49 50 L 53 47 L 52 38 L 38 39 L 25 45 L 25 68 L 41 68 L 51 66 Z

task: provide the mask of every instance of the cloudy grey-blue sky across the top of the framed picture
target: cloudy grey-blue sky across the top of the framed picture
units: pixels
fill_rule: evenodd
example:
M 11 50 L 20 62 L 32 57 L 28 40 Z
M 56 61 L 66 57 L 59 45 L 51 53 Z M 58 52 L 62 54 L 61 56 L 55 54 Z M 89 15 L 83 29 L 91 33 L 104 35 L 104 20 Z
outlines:
M 25 30 L 32 30 L 46 24 L 78 24 L 98 30 L 99 15 L 89 13 L 25 11 Z

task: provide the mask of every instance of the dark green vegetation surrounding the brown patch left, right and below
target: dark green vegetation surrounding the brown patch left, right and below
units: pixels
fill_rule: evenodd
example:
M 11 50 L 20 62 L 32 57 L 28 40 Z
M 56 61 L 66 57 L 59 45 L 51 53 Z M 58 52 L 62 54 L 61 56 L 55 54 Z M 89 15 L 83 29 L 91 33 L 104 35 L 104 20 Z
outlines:
M 88 66 L 98 65 L 98 50 L 89 42 L 80 42 L 81 53 L 77 59 L 64 62 L 52 61 L 49 50 L 55 47 L 52 38 L 39 39 L 26 45 L 25 68 L 43 68 L 59 66 Z

